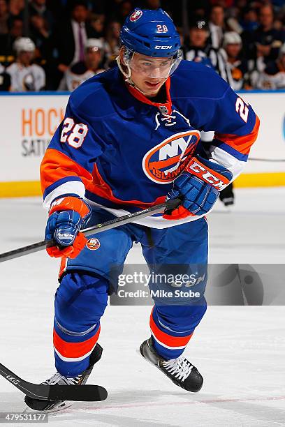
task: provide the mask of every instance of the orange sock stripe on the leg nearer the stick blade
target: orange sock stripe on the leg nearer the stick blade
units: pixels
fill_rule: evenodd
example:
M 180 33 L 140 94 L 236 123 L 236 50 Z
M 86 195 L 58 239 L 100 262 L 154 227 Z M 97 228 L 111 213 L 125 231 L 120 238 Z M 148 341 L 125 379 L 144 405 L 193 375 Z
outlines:
M 68 343 L 67 341 L 64 341 L 60 336 L 57 334 L 57 331 L 53 332 L 53 343 L 54 348 L 61 354 L 63 357 L 70 357 L 72 359 L 76 357 L 82 357 L 85 356 L 85 354 L 91 352 L 92 348 L 96 344 L 98 340 L 98 336 L 100 334 L 99 327 L 98 331 L 94 336 L 89 338 L 86 341 L 82 341 L 82 343 Z

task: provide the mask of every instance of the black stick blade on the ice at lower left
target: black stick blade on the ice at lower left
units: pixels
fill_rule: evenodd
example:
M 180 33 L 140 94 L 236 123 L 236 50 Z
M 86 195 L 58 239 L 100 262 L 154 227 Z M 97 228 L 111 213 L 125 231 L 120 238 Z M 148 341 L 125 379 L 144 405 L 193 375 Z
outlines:
M 74 400 L 80 402 L 95 402 L 105 400 L 108 396 L 107 390 L 98 385 L 52 385 L 34 384 L 18 377 L 6 366 L 0 364 L 0 375 L 6 378 L 22 393 L 30 398 L 40 400 Z

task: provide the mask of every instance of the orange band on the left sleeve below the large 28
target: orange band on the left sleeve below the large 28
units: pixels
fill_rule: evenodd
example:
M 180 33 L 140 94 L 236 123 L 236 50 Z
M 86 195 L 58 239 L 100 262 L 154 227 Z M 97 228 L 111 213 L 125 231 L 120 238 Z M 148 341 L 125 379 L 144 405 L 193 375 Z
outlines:
M 80 177 L 87 186 L 92 174 L 74 160 L 56 149 L 47 149 L 41 163 L 41 187 L 45 189 L 65 177 Z

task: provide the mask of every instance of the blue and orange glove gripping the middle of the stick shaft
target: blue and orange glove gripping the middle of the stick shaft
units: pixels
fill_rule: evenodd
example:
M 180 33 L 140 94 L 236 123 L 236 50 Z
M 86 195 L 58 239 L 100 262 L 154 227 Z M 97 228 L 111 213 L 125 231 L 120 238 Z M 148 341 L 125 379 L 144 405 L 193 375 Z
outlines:
M 61 197 L 52 202 L 49 215 L 45 240 L 54 240 L 57 245 L 47 247 L 48 255 L 56 258 L 77 257 L 87 242 L 79 230 L 90 219 L 89 204 L 80 197 Z

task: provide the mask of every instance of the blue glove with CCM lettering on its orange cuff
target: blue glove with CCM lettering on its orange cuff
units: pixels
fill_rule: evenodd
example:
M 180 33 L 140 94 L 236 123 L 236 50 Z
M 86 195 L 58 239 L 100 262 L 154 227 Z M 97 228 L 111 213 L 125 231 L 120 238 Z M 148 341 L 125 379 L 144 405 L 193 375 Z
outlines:
M 233 179 L 232 173 L 222 165 L 211 162 L 197 154 L 191 158 L 182 174 L 173 181 L 173 189 L 167 200 L 180 198 L 182 204 L 163 218 L 177 220 L 187 216 L 205 215 Z

